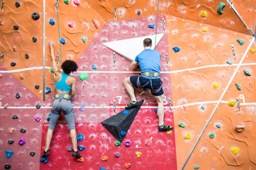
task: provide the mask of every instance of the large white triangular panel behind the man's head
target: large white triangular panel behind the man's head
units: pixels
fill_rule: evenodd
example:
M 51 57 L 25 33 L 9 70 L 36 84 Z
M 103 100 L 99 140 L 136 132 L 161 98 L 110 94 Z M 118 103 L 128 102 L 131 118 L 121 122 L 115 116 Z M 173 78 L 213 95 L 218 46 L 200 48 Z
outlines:
M 145 38 L 151 38 L 152 40 L 152 49 L 155 47 L 155 40 L 156 45 L 164 36 L 164 33 L 159 33 L 157 35 L 151 36 L 144 36 L 144 37 L 137 37 L 137 38 L 130 38 L 130 39 L 123 39 L 118 41 L 110 41 L 107 43 L 102 43 L 106 47 L 112 49 L 114 52 L 122 55 L 127 60 L 133 61 L 135 57 L 142 52 L 143 48 L 143 40 Z

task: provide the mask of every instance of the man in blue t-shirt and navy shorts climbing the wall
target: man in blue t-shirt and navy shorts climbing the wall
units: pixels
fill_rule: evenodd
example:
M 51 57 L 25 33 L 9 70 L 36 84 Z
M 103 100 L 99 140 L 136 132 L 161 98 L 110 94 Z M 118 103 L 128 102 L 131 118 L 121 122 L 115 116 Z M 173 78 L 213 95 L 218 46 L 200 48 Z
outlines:
M 151 94 L 157 101 L 157 116 L 158 116 L 158 131 L 172 130 L 172 126 L 164 124 L 164 91 L 161 81 L 161 55 L 152 47 L 152 40 L 146 38 L 143 41 L 144 50 L 135 57 L 135 60 L 131 63 L 131 69 L 135 69 L 140 66 L 141 74 L 139 76 L 131 76 L 124 79 L 124 87 L 129 94 L 131 101 L 125 106 L 125 109 L 136 107 L 138 102 L 134 95 L 135 88 L 148 88 L 151 89 Z

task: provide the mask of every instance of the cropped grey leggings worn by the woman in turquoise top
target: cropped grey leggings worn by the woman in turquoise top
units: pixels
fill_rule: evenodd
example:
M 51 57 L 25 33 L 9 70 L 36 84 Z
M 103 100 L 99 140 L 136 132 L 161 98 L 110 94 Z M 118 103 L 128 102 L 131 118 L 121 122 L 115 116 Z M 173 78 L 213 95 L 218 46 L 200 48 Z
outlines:
M 61 111 L 63 111 L 63 114 L 68 123 L 68 129 L 69 130 L 75 129 L 74 111 L 73 111 L 70 98 L 71 97 L 69 95 L 65 95 L 65 94 L 56 94 L 54 96 L 48 129 L 52 131 L 54 130 L 55 125 L 60 117 Z

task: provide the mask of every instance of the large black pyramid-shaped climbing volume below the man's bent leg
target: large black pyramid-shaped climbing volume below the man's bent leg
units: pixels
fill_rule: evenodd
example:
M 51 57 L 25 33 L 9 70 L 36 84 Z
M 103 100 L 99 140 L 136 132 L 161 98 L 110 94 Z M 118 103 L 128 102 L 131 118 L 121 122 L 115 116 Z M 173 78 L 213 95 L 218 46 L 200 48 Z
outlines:
M 119 142 L 122 142 L 125 135 L 121 135 L 121 131 L 128 132 L 134 118 L 136 117 L 139 109 L 144 100 L 139 101 L 138 106 L 129 109 L 128 114 L 122 114 L 124 111 L 117 113 L 114 116 L 109 117 L 107 120 L 101 122 L 101 124 L 115 137 Z

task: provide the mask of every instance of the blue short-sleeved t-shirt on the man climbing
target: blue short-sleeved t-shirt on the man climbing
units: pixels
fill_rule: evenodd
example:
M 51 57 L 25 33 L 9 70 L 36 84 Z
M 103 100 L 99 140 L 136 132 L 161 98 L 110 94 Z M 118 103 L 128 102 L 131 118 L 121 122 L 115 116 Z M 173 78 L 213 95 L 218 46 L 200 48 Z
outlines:
M 161 60 L 161 55 L 159 52 L 157 52 L 154 49 L 144 49 L 139 55 L 135 57 L 134 61 L 140 63 L 140 69 L 142 73 L 144 72 L 160 73 L 160 70 L 161 70 L 160 60 Z M 148 77 L 145 77 L 145 78 L 148 78 Z M 152 79 L 158 79 L 158 78 L 153 77 Z

